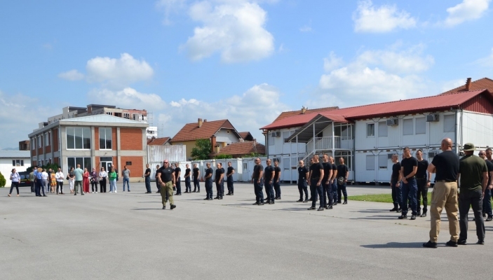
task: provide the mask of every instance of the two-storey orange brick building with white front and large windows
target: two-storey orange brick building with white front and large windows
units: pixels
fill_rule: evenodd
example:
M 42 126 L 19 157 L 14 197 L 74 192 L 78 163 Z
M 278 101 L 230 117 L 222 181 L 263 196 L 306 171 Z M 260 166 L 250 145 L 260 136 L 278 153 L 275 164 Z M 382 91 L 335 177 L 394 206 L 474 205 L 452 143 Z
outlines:
M 130 181 L 142 181 L 147 162 L 146 128 L 142 121 L 98 114 L 59 119 L 29 134 L 32 165 L 130 169 Z

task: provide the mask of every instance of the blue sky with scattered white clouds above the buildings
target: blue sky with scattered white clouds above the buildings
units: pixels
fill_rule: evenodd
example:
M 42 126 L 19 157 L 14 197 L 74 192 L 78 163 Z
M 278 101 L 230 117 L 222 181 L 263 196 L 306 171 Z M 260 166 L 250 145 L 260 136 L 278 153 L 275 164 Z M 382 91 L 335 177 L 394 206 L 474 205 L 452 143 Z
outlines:
M 0 2 L 0 148 L 65 106 L 260 127 L 493 78 L 492 0 Z

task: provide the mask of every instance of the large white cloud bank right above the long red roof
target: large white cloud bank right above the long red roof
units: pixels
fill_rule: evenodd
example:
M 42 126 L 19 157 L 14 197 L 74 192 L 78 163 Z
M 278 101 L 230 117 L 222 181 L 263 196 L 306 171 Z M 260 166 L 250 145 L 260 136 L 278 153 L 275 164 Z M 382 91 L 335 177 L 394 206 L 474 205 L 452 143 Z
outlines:
M 337 67 L 342 59 L 331 53 L 324 59 L 327 73 L 320 77 L 318 97 L 308 105 L 354 106 L 430 94 L 429 81 L 419 73 L 433 65 L 433 57 L 421 55 L 422 49 L 367 50 Z

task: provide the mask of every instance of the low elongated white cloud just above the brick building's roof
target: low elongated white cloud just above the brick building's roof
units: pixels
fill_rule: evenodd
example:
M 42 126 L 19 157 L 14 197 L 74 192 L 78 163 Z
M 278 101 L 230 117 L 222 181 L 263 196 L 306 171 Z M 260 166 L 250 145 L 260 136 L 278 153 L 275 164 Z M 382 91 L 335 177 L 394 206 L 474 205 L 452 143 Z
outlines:
M 88 99 L 93 103 L 114 104 L 126 109 L 159 111 L 167 107 L 166 102 L 158 94 L 137 92 L 132 87 L 123 90 L 94 89 L 88 92 Z

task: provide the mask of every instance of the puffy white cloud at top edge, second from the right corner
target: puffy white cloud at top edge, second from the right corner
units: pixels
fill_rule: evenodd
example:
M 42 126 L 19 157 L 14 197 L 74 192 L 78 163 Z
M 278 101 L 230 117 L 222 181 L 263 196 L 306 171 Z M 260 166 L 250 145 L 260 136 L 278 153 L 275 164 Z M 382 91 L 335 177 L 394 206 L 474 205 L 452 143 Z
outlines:
M 405 10 L 398 10 L 396 5 L 373 6 L 371 0 L 358 2 L 353 13 L 354 31 L 384 33 L 394 29 L 410 29 L 416 27 L 417 20 Z

